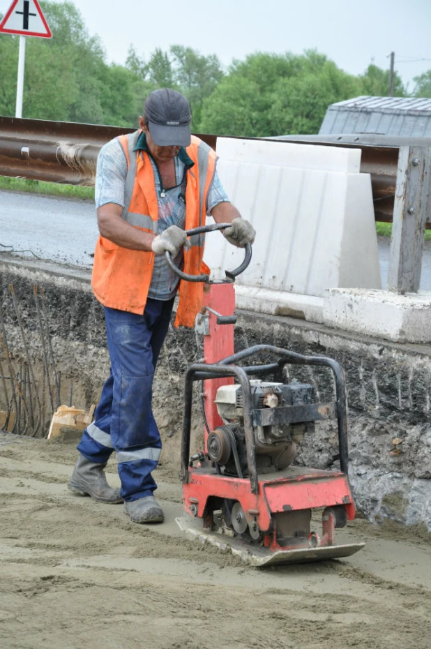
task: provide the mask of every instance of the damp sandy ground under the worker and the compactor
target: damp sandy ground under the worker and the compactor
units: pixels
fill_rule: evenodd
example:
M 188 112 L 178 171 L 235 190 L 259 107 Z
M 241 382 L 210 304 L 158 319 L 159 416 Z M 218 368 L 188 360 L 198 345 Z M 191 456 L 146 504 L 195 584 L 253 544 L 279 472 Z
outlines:
M 0 433 L 1 649 L 430 649 L 430 535 L 356 519 L 347 560 L 254 569 L 66 488 L 73 445 Z M 115 465 L 109 481 L 119 484 Z

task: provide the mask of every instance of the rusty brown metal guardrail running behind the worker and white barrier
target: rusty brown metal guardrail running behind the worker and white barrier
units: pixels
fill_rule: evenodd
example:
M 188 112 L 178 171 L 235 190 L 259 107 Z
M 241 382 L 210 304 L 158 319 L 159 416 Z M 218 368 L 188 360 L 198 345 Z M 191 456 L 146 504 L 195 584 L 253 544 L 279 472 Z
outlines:
M 123 133 L 133 133 L 133 128 L 0 117 L 0 171 L 4 176 L 93 186 L 98 152 L 112 137 Z M 199 137 L 215 149 L 216 135 Z M 377 146 L 370 136 L 357 135 L 284 135 L 265 139 L 361 148 L 361 172 L 371 174 L 376 221 L 392 221 L 396 143 Z

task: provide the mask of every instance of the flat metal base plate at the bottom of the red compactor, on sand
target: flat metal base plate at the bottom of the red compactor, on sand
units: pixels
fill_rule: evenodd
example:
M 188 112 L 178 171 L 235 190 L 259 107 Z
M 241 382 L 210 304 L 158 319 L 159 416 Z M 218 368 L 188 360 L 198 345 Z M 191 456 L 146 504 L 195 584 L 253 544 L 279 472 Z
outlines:
M 194 519 L 192 516 L 181 516 L 175 521 L 190 541 L 209 543 L 220 550 L 231 551 L 232 554 L 241 558 L 244 563 L 256 567 L 340 559 L 351 556 L 365 546 L 365 543 L 356 543 L 273 552 L 259 546 L 248 545 L 236 537 L 204 530 L 202 529 L 202 520 Z

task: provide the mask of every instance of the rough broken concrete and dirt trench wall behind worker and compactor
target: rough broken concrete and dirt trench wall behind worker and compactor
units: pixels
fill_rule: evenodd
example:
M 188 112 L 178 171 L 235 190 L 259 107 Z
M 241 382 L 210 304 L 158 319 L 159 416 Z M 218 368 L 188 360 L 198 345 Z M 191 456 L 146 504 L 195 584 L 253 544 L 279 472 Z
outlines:
M 20 304 L 25 337 L 35 373 L 43 372 L 43 353 L 34 302 L 34 285 L 43 287 L 56 366 L 61 371 L 61 401 L 97 403 L 109 372 L 103 309 L 93 298 L 87 271 L 55 264 L 0 260 L 0 299 L 8 345 L 17 364 L 24 359 L 9 285 Z M 237 313 L 236 350 L 268 343 L 306 355 L 328 355 L 345 370 L 349 408 L 349 477 L 356 504 L 371 520 L 389 517 L 431 530 L 431 348 L 397 345 L 292 318 Z M 153 389 L 153 410 L 163 440 L 162 463 L 179 471 L 183 373 L 200 356 L 202 338 L 188 329 L 169 330 Z M 320 400 L 331 400 L 333 379 L 324 368 L 290 366 L 289 380 L 310 382 Z M 0 387 L 1 395 L 1 387 Z M 1 398 L 0 398 L 1 403 Z M 195 389 L 193 445 L 202 445 L 203 422 Z M 305 440 L 297 461 L 336 468 L 337 432 L 320 424 Z

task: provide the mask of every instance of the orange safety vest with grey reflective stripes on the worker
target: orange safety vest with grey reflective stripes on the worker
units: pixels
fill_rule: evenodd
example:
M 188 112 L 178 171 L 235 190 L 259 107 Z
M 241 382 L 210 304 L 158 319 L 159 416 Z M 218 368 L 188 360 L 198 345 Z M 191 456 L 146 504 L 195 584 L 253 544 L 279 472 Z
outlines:
M 144 232 L 158 231 L 158 203 L 153 166 L 145 151 L 134 151 L 141 131 L 121 135 L 119 142 L 127 159 L 128 173 L 125 185 L 123 214 L 125 221 Z M 217 156 L 211 147 L 192 135 L 186 149 L 195 163 L 187 171 L 186 230 L 205 225 L 206 198 L 215 173 Z M 204 234 L 191 237 L 192 244 L 184 251 L 184 268 L 187 274 L 208 273 L 202 261 Z M 104 306 L 131 313 L 144 313 L 151 276 L 154 253 L 122 248 L 100 236 L 94 253 L 91 287 L 98 301 Z M 194 327 L 195 318 L 202 308 L 204 285 L 181 280 L 179 307 L 175 326 Z

